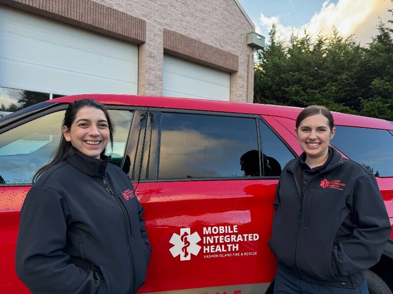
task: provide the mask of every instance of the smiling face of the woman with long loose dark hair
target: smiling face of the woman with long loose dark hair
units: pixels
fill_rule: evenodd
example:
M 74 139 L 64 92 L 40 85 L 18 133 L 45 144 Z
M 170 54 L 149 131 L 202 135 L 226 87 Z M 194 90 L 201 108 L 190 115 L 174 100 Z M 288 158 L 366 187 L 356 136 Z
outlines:
M 65 140 L 71 142 L 72 146 L 94 158 L 100 158 L 110 137 L 107 117 L 95 107 L 81 108 L 71 128 L 63 126 L 62 132 Z

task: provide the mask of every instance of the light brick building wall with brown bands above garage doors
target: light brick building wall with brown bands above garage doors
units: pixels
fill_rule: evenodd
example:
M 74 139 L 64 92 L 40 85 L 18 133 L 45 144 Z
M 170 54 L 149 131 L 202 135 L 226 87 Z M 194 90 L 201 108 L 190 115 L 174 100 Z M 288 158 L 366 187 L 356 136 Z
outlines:
M 230 100 L 252 102 L 253 31 L 236 0 L 0 0 L 139 44 L 138 94 L 162 95 L 164 53 L 230 73 Z M 179 43 L 179 44 L 177 44 Z M 247 85 L 249 95 L 247 98 Z

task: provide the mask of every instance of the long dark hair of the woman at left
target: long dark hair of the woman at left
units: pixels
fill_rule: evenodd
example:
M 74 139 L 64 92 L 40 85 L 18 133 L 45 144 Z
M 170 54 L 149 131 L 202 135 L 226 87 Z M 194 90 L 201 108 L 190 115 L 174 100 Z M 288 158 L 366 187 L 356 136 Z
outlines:
M 74 123 L 78 111 L 84 107 L 94 107 L 104 112 L 108 121 L 110 144 L 111 144 L 111 148 L 113 149 L 114 125 L 109 116 L 108 110 L 105 108 L 105 106 L 94 99 L 87 98 L 87 99 L 76 100 L 70 103 L 67 107 L 67 110 L 65 111 L 62 126 L 66 126 L 68 129 L 71 129 L 71 125 L 72 123 Z M 101 152 L 101 157 L 105 154 L 105 151 L 106 148 Z M 51 160 L 51 162 L 40 168 L 34 174 L 32 182 L 34 183 L 49 168 L 59 163 L 60 161 L 64 160 L 65 158 L 71 156 L 72 154 L 74 154 L 74 152 L 75 152 L 75 148 L 72 146 L 71 142 L 67 142 L 64 138 L 64 135 L 61 134 L 60 144 L 57 147 L 57 149 L 54 151 L 53 153 L 54 155 L 52 155 L 53 159 Z

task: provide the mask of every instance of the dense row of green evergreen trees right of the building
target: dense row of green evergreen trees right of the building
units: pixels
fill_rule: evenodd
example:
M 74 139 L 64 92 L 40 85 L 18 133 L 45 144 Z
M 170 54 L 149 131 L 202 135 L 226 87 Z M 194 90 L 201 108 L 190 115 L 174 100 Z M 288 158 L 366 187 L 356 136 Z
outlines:
M 272 25 L 270 43 L 257 51 L 254 102 L 318 104 L 393 121 L 393 29 L 381 21 L 377 28 L 367 48 L 353 36 L 344 38 L 336 27 L 315 39 L 307 31 L 302 37 L 292 33 L 285 44 Z

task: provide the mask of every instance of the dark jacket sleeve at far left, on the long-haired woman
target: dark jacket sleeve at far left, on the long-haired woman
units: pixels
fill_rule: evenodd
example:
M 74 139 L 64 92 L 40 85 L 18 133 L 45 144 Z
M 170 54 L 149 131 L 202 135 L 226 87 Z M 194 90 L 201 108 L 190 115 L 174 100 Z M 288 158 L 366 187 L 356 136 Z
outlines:
M 107 293 L 104 279 L 70 262 L 66 245 L 66 203 L 50 188 L 33 187 L 21 210 L 15 267 L 18 277 L 34 294 Z

